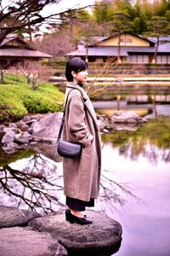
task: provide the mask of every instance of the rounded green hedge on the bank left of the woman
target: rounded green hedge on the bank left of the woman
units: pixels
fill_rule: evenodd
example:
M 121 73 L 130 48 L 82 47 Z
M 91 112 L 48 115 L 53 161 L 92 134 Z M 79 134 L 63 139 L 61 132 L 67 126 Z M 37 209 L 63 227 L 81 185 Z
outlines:
M 27 113 L 48 113 L 63 110 L 64 94 L 52 84 L 32 90 L 23 77 L 14 81 L 8 76 L 0 84 L 0 121 L 20 119 Z

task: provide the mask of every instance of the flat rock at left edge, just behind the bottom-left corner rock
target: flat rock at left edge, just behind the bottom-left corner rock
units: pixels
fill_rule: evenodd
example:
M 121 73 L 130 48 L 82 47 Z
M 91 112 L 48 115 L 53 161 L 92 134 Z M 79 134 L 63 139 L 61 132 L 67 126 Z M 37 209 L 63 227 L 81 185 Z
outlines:
M 26 226 L 32 219 L 40 216 L 37 212 L 0 206 L 0 228 Z

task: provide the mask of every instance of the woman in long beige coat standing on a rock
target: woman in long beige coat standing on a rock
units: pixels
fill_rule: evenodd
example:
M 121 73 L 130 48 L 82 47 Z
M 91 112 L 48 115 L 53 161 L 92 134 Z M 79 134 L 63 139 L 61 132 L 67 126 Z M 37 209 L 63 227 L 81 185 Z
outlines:
M 94 108 L 83 89 L 88 78 L 88 65 L 79 57 L 66 63 L 65 125 L 62 137 L 81 143 L 82 155 L 78 159 L 63 159 L 64 194 L 66 195 L 66 220 L 70 223 L 92 224 L 82 215 L 86 207 L 94 207 L 99 194 L 101 146 L 99 126 Z

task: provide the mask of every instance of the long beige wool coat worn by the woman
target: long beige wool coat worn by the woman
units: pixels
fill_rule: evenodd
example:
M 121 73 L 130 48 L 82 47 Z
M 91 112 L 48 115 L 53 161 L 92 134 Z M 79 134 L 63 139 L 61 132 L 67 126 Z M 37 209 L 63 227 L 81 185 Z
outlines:
M 72 90 L 77 89 L 77 90 Z M 64 194 L 82 201 L 97 198 L 101 169 L 101 143 L 94 107 L 81 86 L 66 84 L 69 94 L 62 137 L 82 144 L 80 159 L 63 158 Z

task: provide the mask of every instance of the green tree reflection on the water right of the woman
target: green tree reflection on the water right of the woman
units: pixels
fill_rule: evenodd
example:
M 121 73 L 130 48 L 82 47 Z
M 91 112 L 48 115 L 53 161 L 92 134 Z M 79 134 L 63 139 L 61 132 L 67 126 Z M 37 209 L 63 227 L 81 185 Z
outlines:
M 131 160 L 138 160 L 142 155 L 153 164 L 158 160 L 170 162 L 169 118 L 151 120 L 138 131 L 114 131 L 104 135 L 103 139 L 118 148 L 119 154 Z

